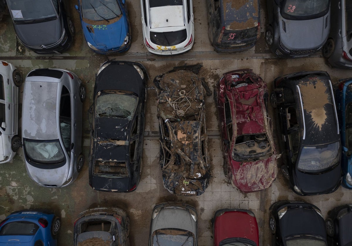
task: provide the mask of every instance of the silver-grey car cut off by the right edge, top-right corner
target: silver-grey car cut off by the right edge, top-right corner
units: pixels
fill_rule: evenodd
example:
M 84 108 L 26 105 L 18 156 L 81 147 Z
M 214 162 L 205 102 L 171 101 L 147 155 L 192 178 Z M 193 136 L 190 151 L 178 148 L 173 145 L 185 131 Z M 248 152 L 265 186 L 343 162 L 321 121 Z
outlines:
M 333 67 L 352 68 L 352 2 L 331 4 L 331 29 L 323 56 Z

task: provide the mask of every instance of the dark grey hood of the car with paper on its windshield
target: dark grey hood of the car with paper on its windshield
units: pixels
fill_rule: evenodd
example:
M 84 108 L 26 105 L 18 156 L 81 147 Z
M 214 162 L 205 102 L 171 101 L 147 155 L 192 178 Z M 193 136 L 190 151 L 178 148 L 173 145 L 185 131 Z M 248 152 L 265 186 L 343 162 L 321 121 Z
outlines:
M 14 24 L 14 28 L 21 42 L 31 47 L 55 44 L 62 34 L 59 19 L 32 24 Z

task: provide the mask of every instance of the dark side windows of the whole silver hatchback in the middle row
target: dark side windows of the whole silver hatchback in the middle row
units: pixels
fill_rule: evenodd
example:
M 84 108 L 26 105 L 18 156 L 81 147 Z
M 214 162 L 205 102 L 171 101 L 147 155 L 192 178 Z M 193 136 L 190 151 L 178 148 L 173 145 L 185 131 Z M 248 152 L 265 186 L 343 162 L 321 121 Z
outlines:
M 61 91 L 59 117 L 62 141 L 68 150 L 71 144 L 71 95 L 65 86 Z

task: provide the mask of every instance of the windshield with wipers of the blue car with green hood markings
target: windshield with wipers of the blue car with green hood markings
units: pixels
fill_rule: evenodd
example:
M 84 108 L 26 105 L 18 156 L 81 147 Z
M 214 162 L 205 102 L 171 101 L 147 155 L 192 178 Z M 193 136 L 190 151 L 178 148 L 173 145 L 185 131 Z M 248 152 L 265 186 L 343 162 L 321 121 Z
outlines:
M 121 15 L 121 9 L 116 0 L 82 0 L 82 18 L 101 21 L 110 20 Z

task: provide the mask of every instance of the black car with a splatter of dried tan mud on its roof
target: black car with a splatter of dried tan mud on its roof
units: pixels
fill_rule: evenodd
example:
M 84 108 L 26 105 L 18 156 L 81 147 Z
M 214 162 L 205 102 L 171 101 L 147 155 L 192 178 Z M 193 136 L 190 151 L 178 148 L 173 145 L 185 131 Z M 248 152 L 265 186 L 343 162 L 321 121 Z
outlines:
M 334 94 L 323 71 L 298 72 L 274 80 L 281 170 L 298 195 L 334 192 L 341 183 L 341 143 Z

